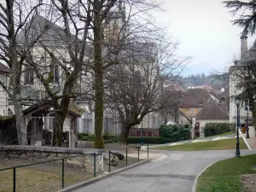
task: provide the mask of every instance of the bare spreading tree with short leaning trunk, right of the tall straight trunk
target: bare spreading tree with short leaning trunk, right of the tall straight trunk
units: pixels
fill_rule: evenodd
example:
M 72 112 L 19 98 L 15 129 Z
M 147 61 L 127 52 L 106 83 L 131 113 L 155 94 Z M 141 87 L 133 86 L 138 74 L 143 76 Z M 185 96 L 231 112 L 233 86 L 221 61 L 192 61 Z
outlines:
M 106 95 L 109 108 L 119 112 L 121 142 L 127 142 L 131 127 L 139 125 L 145 115 L 161 113 L 177 99 L 173 92 L 163 90 L 163 81 L 182 71 L 189 60 L 177 61 L 176 49 L 175 42 L 156 38 L 153 43 L 126 44 L 120 56 L 123 65 L 111 68 Z

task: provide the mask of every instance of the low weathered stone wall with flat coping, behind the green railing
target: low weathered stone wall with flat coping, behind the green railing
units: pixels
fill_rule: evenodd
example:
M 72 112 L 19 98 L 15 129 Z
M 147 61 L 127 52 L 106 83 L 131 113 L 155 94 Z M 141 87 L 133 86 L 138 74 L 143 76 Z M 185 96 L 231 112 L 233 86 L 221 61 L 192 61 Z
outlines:
M 83 167 L 86 172 L 94 172 L 94 154 L 96 154 L 96 172 L 103 172 L 103 153 L 105 150 L 94 148 L 56 148 L 42 146 L 0 145 L 0 157 L 5 159 L 55 160 L 65 158 L 67 165 Z M 61 163 L 61 160 L 55 161 Z

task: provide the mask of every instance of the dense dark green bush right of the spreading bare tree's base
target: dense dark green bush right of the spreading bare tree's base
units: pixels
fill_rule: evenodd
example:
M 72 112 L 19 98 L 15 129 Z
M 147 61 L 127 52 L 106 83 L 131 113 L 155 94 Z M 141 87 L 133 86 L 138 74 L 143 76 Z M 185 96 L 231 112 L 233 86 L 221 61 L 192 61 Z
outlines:
M 160 136 L 164 143 L 180 142 L 190 138 L 189 125 L 160 125 Z

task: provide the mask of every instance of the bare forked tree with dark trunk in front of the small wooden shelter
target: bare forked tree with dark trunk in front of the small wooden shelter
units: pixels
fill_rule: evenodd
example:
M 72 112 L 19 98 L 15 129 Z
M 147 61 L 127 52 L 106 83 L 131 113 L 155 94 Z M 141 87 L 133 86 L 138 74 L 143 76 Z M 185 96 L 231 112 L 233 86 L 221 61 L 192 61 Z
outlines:
M 86 12 L 87 11 L 87 12 Z M 88 15 L 82 15 L 88 13 Z M 40 13 L 39 13 L 40 14 Z M 90 61 L 90 3 L 55 1 L 49 9 L 30 22 L 32 30 L 25 35 L 40 33 L 47 27 L 37 46 L 26 57 L 27 66 L 39 80 L 38 89 L 46 91 L 44 99 L 52 102 L 55 121 L 53 145 L 61 146 L 62 129 L 70 101 L 78 96 L 76 85 L 86 73 Z M 80 84 L 81 86 L 81 84 Z

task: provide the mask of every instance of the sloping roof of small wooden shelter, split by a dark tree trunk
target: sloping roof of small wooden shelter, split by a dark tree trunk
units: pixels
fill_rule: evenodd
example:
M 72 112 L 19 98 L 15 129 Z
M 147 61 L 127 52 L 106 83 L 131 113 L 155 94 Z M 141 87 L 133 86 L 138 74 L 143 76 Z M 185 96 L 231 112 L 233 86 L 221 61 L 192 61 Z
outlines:
M 26 115 L 28 113 L 37 111 L 39 108 L 44 108 L 46 110 L 49 110 L 49 108 L 52 108 L 52 102 L 51 101 L 38 102 L 37 104 L 23 110 L 23 113 Z M 79 108 L 79 106 L 77 106 L 74 102 L 69 102 L 67 113 L 71 114 L 74 117 L 81 117 L 81 115 L 84 112 L 85 112 L 84 108 Z

